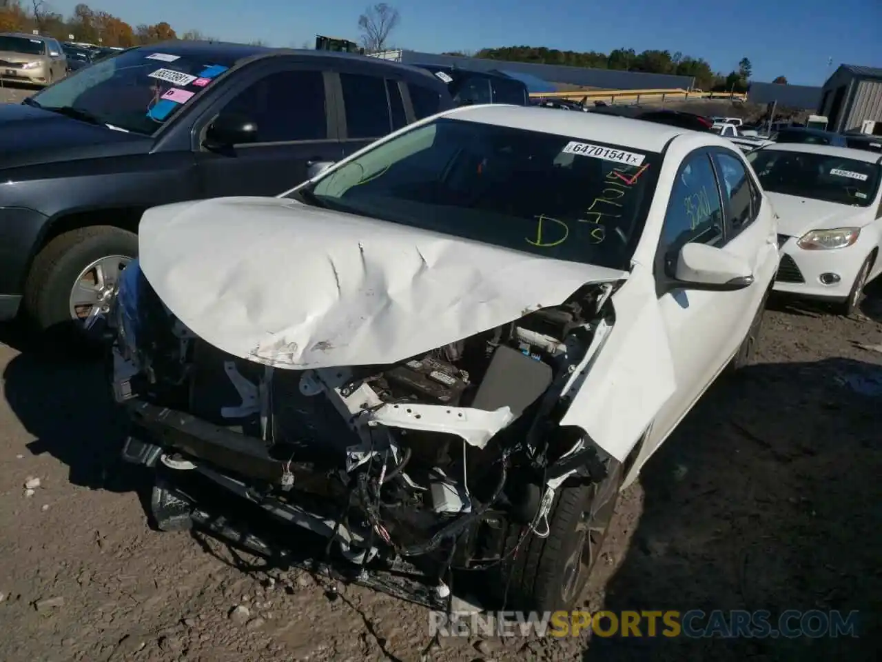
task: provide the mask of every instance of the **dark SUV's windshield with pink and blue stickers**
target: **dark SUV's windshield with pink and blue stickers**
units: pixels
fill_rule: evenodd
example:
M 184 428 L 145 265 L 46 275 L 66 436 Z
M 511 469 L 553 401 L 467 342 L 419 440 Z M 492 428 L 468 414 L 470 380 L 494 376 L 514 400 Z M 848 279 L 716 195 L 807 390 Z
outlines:
M 233 64 L 133 49 L 81 69 L 27 101 L 89 117 L 94 124 L 152 135 Z

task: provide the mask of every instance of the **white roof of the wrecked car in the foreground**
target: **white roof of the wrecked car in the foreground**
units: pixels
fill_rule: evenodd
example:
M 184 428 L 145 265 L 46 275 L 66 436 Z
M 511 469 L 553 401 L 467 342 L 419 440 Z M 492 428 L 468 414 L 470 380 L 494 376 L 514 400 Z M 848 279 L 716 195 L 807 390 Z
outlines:
M 508 126 L 512 129 L 596 140 L 656 153 L 661 152 L 671 139 L 689 131 L 669 124 L 657 124 L 630 117 L 610 117 L 603 113 L 549 113 L 541 106 L 502 104 L 465 106 L 454 111 L 450 117 L 469 122 Z M 696 132 L 690 132 L 690 134 L 694 133 Z

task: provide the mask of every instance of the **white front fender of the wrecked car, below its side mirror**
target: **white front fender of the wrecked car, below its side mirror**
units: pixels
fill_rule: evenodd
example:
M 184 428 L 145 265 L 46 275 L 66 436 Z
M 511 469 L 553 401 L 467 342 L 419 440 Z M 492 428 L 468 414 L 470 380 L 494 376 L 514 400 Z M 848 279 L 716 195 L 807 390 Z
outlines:
M 627 284 L 610 300 L 616 323 L 573 373 L 567 390 L 575 395 L 560 425 L 578 426 L 624 463 L 674 395 L 676 376 L 648 271 L 635 267 Z

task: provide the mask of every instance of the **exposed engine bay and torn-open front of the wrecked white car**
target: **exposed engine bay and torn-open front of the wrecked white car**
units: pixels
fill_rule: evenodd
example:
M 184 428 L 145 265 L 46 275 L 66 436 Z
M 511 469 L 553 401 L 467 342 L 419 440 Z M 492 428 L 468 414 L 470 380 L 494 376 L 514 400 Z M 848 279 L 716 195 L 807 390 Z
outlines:
M 302 371 L 213 348 L 141 279 L 137 316 L 112 320 L 123 456 L 203 471 L 358 572 L 406 560 L 443 586 L 505 560 L 512 530 L 547 535 L 564 480 L 602 478 L 557 423 L 613 324 L 609 283 L 394 365 Z

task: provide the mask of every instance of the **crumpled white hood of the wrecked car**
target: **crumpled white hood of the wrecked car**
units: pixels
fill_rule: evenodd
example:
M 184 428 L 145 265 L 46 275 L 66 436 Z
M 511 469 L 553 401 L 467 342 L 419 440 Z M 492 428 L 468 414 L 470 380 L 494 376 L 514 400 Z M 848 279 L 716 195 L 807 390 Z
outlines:
M 153 207 L 138 233 L 184 325 L 283 369 L 395 363 L 627 277 L 293 199 Z

